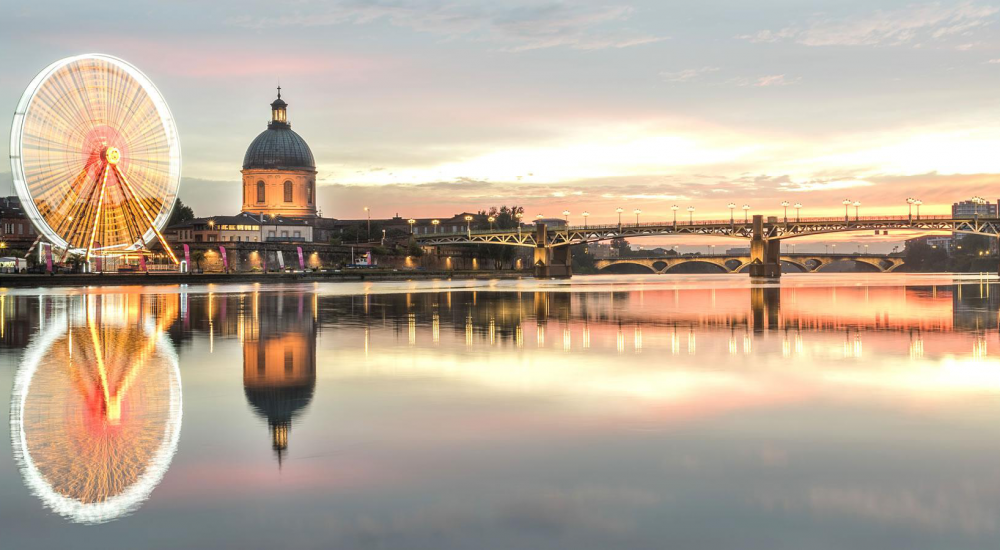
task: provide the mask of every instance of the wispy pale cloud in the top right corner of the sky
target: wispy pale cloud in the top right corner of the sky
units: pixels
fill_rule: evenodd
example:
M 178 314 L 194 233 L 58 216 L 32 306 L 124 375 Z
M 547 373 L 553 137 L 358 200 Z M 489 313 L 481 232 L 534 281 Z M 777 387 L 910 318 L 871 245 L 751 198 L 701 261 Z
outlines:
M 858 18 L 818 18 L 804 26 L 762 30 L 737 38 L 755 43 L 793 40 L 806 46 L 899 46 L 964 36 L 989 25 L 1000 8 L 974 2 L 939 2 L 877 10 Z

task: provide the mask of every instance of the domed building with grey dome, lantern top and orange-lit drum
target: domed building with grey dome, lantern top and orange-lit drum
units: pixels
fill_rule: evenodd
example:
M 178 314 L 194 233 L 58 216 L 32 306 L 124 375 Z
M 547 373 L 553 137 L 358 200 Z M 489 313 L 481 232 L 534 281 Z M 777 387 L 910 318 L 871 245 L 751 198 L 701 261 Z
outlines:
M 316 217 L 316 160 L 309 145 L 292 131 L 288 104 L 271 103 L 271 122 L 243 157 L 243 212 Z

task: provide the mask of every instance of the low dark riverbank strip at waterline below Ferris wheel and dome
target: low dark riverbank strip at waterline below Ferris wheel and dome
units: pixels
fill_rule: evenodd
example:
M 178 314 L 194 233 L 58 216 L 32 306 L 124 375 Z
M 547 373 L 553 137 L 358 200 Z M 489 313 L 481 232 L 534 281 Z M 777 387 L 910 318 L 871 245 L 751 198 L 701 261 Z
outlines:
M 524 271 L 395 271 L 347 270 L 340 272 L 301 273 L 73 273 L 58 275 L 0 275 L 0 288 L 45 288 L 64 286 L 129 286 L 173 284 L 227 284 L 227 283 L 301 283 L 301 282 L 356 282 L 356 281 L 405 281 L 427 279 L 526 279 L 531 273 Z

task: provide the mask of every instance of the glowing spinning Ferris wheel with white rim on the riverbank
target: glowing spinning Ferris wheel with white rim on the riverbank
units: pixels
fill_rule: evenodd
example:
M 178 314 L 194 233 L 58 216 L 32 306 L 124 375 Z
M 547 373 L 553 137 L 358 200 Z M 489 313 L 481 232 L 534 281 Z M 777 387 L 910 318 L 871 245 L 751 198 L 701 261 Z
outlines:
M 177 127 L 163 96 L 108 55 L 68 57 L 28 85 L 10 138 L 14 188 L 40 238 L 66 254 L 143 251 L 180 186 Z

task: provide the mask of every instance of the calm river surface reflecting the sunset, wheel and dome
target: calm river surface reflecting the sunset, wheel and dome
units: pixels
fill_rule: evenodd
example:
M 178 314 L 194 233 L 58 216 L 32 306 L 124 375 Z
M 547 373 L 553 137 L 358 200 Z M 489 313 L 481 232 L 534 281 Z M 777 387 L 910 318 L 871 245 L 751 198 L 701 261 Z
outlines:
M 3 548 L 997 548 L 1000 288 L 0 289 Z

